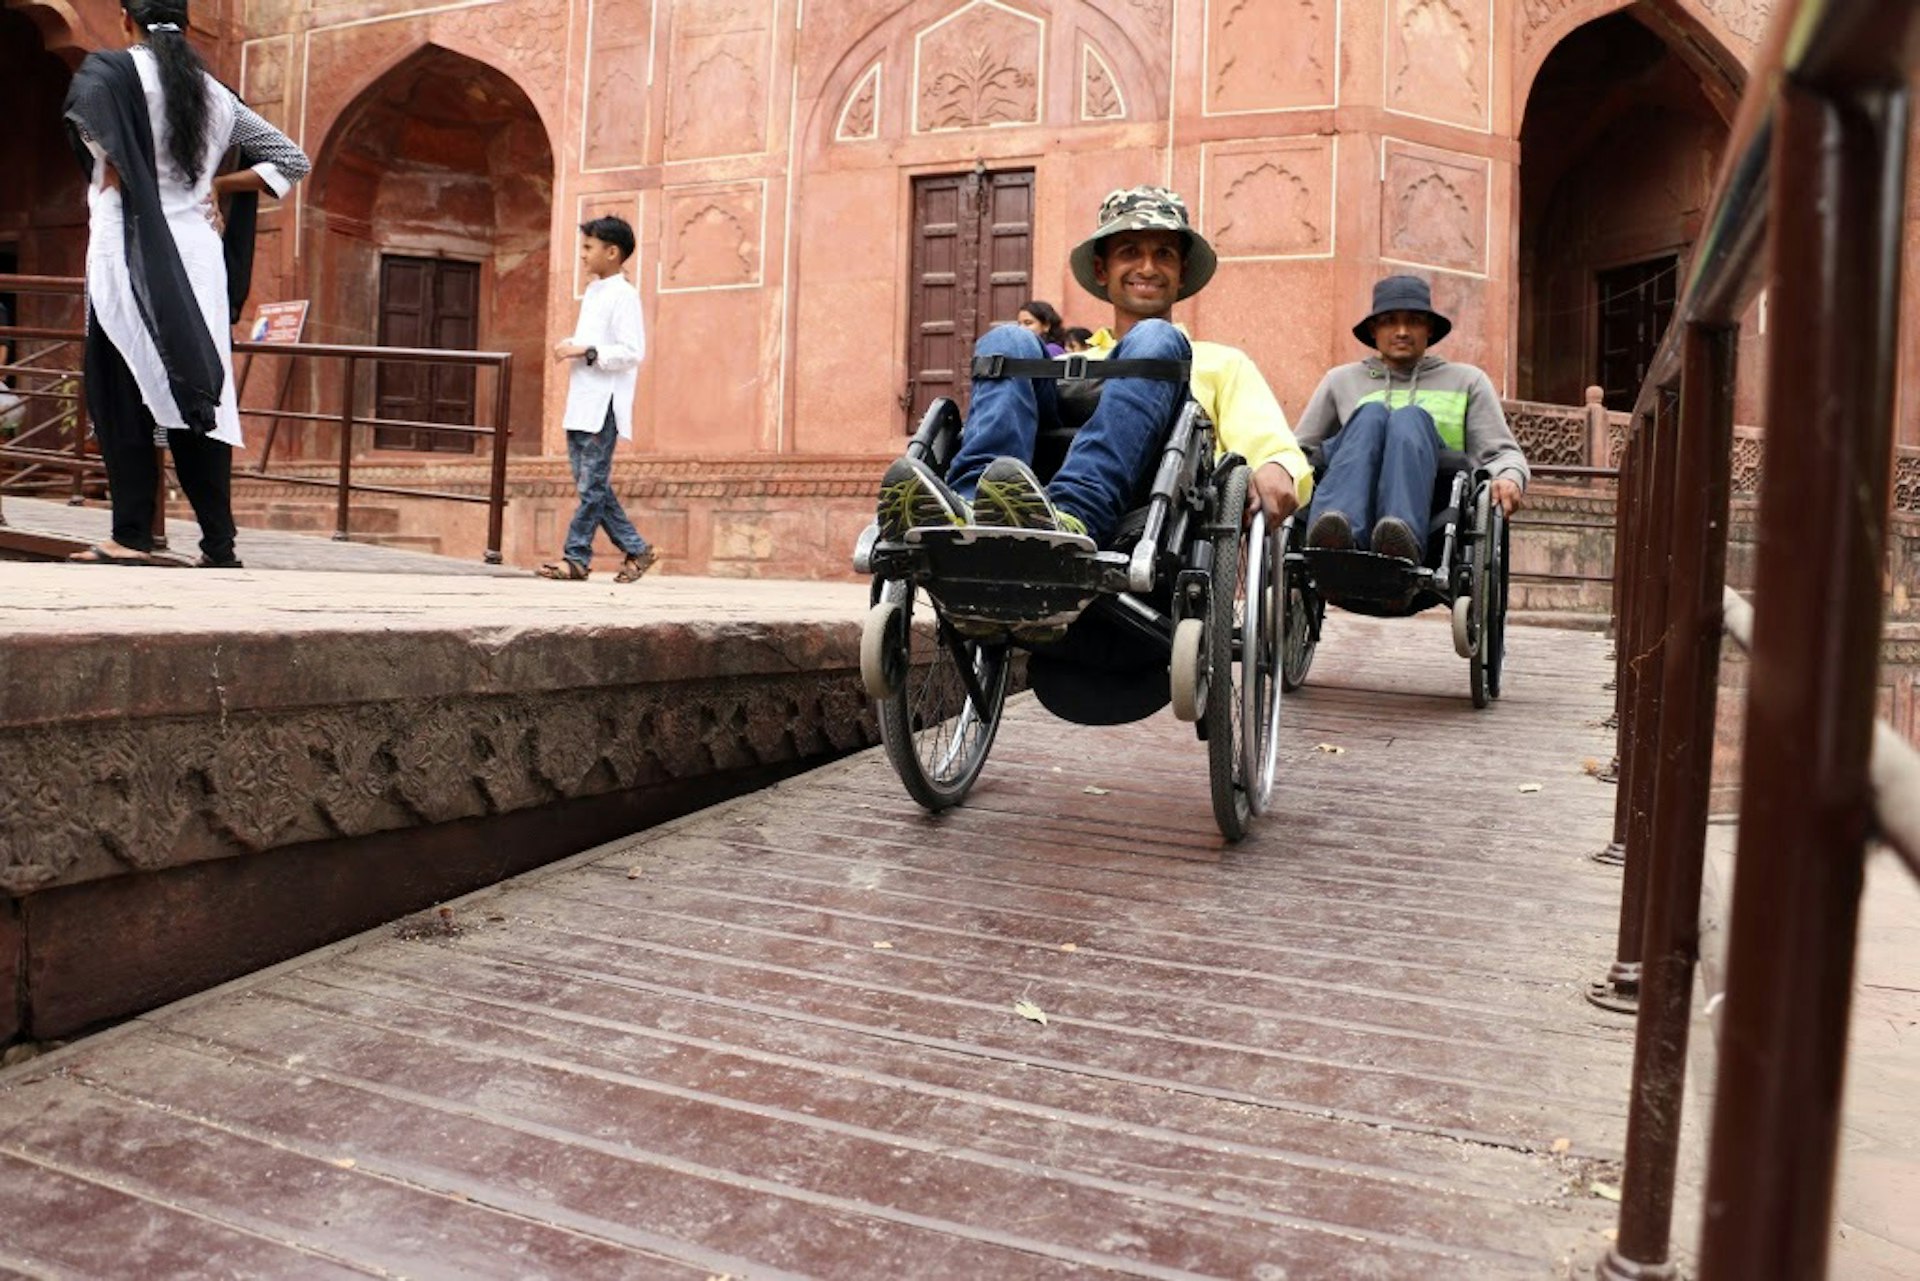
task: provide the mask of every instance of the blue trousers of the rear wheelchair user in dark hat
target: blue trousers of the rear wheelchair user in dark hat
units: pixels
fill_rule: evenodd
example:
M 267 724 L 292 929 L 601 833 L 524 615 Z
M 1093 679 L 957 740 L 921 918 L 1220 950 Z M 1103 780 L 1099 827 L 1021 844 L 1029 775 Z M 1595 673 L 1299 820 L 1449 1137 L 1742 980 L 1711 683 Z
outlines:
M 1377 520 L 1400 517 L 1427 545 L 1434 471 L 1440 465 L 1440 432 L 1430 413 L 1419 405 L 1388 411 L 1373 401 L 1356 409 L 1321 449 L 1327 472 L 1313 490 L 1315 517 L 1344 513 L 1354 522 L 1359 547 L 1369 544 Z

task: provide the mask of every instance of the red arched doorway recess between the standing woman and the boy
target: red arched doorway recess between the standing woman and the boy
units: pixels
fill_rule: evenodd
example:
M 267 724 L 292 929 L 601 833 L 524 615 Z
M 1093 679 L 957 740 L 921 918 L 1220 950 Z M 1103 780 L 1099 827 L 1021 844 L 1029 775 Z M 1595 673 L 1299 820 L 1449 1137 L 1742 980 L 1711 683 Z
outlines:
M 307 271 L 326 342 L 515 353 L 513 447 L 540 451 L 553 148 L 528 96 L 493 67 L 426 46 L 328 131 L 309 190 Z M 380 417 L 465 421 L 465 371 L 382 365 Z M 380 432 L 378 449 L 470 440 Z

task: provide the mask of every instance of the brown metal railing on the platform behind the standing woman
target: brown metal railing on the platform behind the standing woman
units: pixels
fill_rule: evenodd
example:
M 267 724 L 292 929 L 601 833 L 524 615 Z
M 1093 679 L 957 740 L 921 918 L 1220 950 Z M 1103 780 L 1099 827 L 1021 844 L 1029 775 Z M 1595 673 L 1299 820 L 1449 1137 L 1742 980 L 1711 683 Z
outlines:
M 84 290 L 84 282 L 73 277 L 17 277 L 0 275 L 0 292 L 17 294 L 65 294 L 79 298 Z M 0 342 L 17 342 L 21 338 L 54 340 L 63 344 L 73 344 L 73 351 L 79 350 L 84 332 L 79 328 L 60 328 L 60 326 L 31 326 L 31 325 L 0 325 Z M 296 342 L 296 344 L 265 344 L 265 342 L 234 342 L 234 355 L 276 355 L 288 359 L 309 359 L 330 363 L 338 369 L 338 378 L 332 380 L 332 388 L 338 398 L 340 409 L 334 413 L 319 413 L 309 409 L 284 409 L 284 407 L 248 407 L 242 403 L 240 413 L 246 419 L 265 419 L 275 424 L 280 423 L 315 423 L 338 428 L 338 463 L 334 476 L 294 476 L 276 474 L 267 471 L 234 471 L 238 480 L 271 480 L 275 484 L 288 486 L 307 486 L 336 492 L 334 503 L 334 538 L 346 542 L 351 536 L 351 495 L 353 494 L 386 494 L 397 497 L 422 497 L 438 499 L 447 503 L 486 503 L 488 507 L 488 534 L 486 534 L 486 553 L 488 565 L 501 563 L 501 542 L 505 532 L 505 509 L 507 509 L 507 444 L 511 434 L 509 405 L 513 399 L 513 353 L 509 351 L 447 351 L 447 350 L 428 350 L 428 348 L 374 348 L 374 346 L 342 346 L 342 344 L 323 344 L 323 342 Z M 36 359 L 44 359 L 44 353 L 36 353 Z M 361 369 L 376 367 L 382 361 L 407 363 L 407 365 L 463 365 L 474 371 L 492 369 L 493 371 L 493 396 L 492 396 L 492 424 L 482 423 L 417 423 L 411 419 L 382 419 L 376 415 L 363 415 L 357 409 L 359 386 L 357 376 Z M 19 365 L 6 365 L 4 369 L 19 369 Z M 44 367 L 38 373 L 50 373 Z M 86 449 L 86 401 L 79 394 L 81 371 L 61 369 L 52 371 L 69 380 L 69 390 L 56 394 L 48 390 L 35 390 L 35 398 L 54 398 L 61 401 L 71 401 L 75 405 L 71 415 L 71 442 L 61 447 L 44 447 L 40 444 L 23 444 L 15 440 L 0 440 L 0 467 L 12 463 L 19 471 L 13 480 L 29 474 L 35 469 L 52 469 L 71 474 L 73 501 L 81 499 L 83 484 L 86 478 L 104 478 L 106 467 L 96 453 Z M 476 375 L 478 376 L 478 375 Z M 474 398 L 474 417 L 478 419 L 478 407 L 484 401 Z M 413 432 L 434 432 L 444 436 L 465 436 L 465 438 L 484 438 L 492 440 L 493 451 L 488 469 L 488 492 L 486 494 L 463 494 L 457 490 L 428 490 L 419 486 L 388 486 L 388 484 L 361 484 L 353 480 L 355 463 L 355 432 L 357 428 L 397 428 Z M 269 434 L 271 440 L 271 434 Z M 163 507 L 161 507 L 163 511 Z

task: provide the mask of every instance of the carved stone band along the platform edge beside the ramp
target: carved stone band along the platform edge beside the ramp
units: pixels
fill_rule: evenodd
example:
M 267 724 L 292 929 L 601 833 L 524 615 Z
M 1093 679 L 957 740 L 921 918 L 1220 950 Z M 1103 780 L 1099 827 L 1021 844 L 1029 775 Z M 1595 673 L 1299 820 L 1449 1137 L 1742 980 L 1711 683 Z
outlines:
M 0 891 L 874 741 L 845 672 L 36 728 L 0 736 Z

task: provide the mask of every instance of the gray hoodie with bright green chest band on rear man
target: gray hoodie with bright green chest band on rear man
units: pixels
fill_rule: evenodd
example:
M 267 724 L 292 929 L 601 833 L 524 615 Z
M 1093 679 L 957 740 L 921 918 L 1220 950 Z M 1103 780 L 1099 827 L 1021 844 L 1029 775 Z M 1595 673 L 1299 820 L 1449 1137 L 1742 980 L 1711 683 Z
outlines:
M 1379 355 L 1329 369 L 1294 424 L 1294 438 L 1309 449 L 1346 426 L 1354 411 L 1369 401 L 1386 401 L 1390 409 L 1421 405 L 1450 449 L 1459 449 L 1494 476 L 1507 472 L 1526 488 L 1526 455 L 1507 430 L 1494 382 L 1475 365 L 1453 365 L 1438 355 L 1423 355 L 1407 376 L 1396 375 Z

